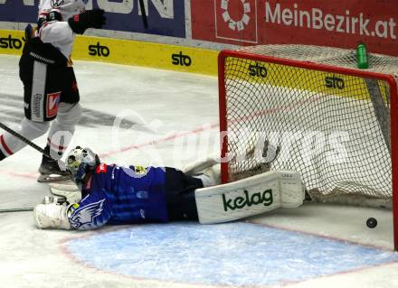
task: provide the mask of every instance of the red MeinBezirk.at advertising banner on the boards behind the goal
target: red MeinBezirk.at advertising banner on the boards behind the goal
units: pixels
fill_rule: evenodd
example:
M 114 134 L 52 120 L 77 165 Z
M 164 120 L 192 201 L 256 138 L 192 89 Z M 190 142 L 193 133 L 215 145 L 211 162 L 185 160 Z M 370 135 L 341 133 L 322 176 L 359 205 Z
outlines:
M 300 43 L 398 56 L 396 0 L 192 0 L 195 40 L 236 45 Z

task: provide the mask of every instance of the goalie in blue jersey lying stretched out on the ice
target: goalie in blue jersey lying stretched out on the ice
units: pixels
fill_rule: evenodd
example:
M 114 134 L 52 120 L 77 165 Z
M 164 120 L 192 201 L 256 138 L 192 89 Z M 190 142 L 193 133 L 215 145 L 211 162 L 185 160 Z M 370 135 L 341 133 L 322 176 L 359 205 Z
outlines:
M 169 167 L 108 165 L 79 146 L 69 153 L 66 167 L 79 195 L 76 188 L 52 187 L 52 196 L 33 210 L 38 228 L 86 230 L 176 220 L 219 223 L 280 207 L 296 208 L 304 200 L 297 172 L 263 172 L 216 185 L 212 167 L 188 174 Z

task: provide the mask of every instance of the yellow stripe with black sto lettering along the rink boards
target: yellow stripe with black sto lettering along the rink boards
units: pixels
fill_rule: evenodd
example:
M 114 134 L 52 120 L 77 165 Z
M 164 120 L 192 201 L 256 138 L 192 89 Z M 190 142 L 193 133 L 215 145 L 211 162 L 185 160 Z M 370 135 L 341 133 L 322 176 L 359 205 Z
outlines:
M 20 55 L 24 32 L 0 30 L 0 53 Z M 152 42 L 78 36 L 72 60 L 104 61 L 165 70 L 217 75 L 218 51 Z

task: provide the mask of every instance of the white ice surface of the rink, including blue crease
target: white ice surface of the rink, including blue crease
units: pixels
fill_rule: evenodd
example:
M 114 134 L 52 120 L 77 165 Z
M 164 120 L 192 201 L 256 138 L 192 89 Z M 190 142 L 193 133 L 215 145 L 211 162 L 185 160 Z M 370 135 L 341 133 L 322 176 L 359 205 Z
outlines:
M 11 126 L 23 112 L 17 67 L 18 58 L 0 56 L 1 121 Z M 72 145 L 90 146 L 107 163 L 176 167 L 218 151 L 217 79 L 83 61 L 75 62 L 75 71 L 85 114 Z M 43 146 L 45 136 L 35 143 Z M 42 200 L 47 185 L 35 181 L 40 160 L 27 147 L 0 163 L 0 209 Z M 369 217 L 377 218 L 376 228 L 366 228 Z M 0 283 L 398 287 L 391 211 L 305 205 L 250 222 L 107 227 L 81 233 L 38 230 L 31 212 L 2 213 Z M 244 269 L 249 274 L 245 282 Z

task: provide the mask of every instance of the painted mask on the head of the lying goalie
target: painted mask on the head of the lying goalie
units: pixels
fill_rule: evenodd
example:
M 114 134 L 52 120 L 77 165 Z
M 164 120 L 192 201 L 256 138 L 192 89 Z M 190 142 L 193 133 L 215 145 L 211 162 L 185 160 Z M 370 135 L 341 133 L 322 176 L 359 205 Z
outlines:
M 68 154 L 66 170 L 71 173 L 71 179 L 79 186 L 84 177 L 100 165 L 100 158 L 93 153 L 90 148 L 81 148 L 76 146 Z

